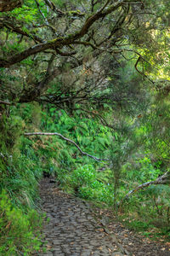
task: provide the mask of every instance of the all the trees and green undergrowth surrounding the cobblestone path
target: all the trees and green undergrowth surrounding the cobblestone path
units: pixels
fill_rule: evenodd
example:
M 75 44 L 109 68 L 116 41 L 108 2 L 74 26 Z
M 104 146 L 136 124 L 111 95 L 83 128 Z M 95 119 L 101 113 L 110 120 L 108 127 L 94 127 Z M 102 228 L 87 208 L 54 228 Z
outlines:
M 169 239 L 169 1 L 1 4 L 0 254 L 41 246 L 46 175 Z

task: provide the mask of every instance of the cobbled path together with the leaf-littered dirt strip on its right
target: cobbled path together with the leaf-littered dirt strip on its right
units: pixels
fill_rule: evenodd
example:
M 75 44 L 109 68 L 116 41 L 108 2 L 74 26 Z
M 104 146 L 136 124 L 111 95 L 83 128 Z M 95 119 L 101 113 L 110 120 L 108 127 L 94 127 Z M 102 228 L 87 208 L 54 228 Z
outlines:
M 49 219 L 42 230 L 47 256 L 169 256 L 170 248 L 127 230 L 111 212 L 68 195 L 43 178 L 42 212 Z

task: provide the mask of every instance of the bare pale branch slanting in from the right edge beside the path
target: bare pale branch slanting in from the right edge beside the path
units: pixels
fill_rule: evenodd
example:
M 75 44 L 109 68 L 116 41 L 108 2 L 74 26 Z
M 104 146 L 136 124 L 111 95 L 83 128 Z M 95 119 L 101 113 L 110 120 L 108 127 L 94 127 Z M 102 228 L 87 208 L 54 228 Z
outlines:
M 136 187 L 135 189 L 133 190 L 130 190 L 127 195 L 125 195 L 121 201 L 118 202 L 118 207 L 120 205 L 122 205 L 122 202 L 123 201 L 126 201 L 127 198 L 132 195 L 133 193 L 139 191 L 139 189 L 144 189 L 144 188 L 147 188 L 149 187 L 150 185 L 157 185 L 157 184 L 170 184 L 170 172 L 166 172 L 164 173 L 161 177 L 157 177 L 156 180 L 154 181 L 151 181 L 151 182 L 147 182 L 147 183 L 143 183 L 143 184 L 140 184 L 138 187 Z

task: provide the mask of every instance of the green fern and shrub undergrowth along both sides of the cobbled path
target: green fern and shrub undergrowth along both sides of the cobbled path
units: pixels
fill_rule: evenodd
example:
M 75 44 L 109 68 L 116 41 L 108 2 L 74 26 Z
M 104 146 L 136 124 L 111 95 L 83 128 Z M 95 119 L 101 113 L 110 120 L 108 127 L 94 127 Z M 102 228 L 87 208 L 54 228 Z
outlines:
M 108 111 L 105 118 L 110 118 L 110 114 Z M 29 255 L 39 250 L 42 217 L 37 213 L 37 185 L 44 172 L 56 178 L 58 186 L 66 192 L 95 201 L 101 207 L 110 207 L 133 230 L 142 231 L 145 236 L 151 232 L 169 239 L 170 190 L 167 185 L 140 190 L 115 211 L 115 201 L 121 201 L 129 190 L 161 175 L 161 161 L 150 160 L 149 151 L 141 156 L 140 151 L 136 154 L 132 148 L 135 143 L 128 144 L 124 130 L 111 131 L 101 125 L 99 119 L 94 116 L 90 119 L 87 115 L 80 110 L 70 115 L 35 103 L 17 105 L 11 108 L 8 119 L 3 117 L 0 141 L 2 255 Z M 111 161 L 94 161 L 82 156 L 73 144 L 60 137 L 25 137 L 26 131 L 59 132 L 88 154 Z M 116 166 L 116 163 L 121 164 Z

